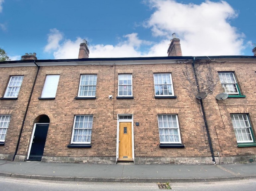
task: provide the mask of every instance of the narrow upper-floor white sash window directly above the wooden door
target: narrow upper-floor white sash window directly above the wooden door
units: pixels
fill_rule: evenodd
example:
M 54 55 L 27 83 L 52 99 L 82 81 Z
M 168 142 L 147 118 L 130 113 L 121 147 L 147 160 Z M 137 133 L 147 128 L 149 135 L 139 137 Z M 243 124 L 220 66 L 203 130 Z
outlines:
M 132 96 L 132 74 L 118 75 L 118 96 Z

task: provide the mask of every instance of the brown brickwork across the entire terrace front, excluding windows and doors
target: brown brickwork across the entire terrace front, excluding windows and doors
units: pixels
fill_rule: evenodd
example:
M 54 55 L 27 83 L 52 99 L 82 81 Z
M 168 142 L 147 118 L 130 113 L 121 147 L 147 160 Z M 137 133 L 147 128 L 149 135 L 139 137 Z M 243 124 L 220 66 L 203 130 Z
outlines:
M 133 114 L 135 163 L 158 164 L 161 162 L 164 164 L 166 160 L 170 163 L 174 160 L 182 164 L 183 160 L 189 164 L 210 164 L 211 153 L 199 105 L 196 98 L 191 99 L 183 87 L 188 86 L 189 83 L 183 80 L 182 70 L 188 66 L 192 73 L 191 63 L 116 65 L 116 69 L 111 65 L 41 66 L 17 155 L 28 155 L 34 121 L 39 115 L 44 114 L 50 118 L 50 125 L 43 161 L 65 162 L 70 158 L 77 158 L 78 162 L 83 161 L 83 163 L 84 161 L 100 163 L 100 160 L 106 161 L 106 159 L 113 163 L 117 148 L 117 115 Z M 230 113 L 248 113 L 253 133 L 256 135 L 255 63 L 247 61 L 246 70 L 241 70 L 245 67 L 243 61 L 213 63 L 212 65 L 216 75 L 219 71 L 235 72 L 240 90 L 246 95 L 246 98 L 228 98 L 225 101 L 217 101 L 215 96 L 222 90 L 221 84 L 218 83 L 213 94 L 203 100 L 214 156 L 217 157 L 219 153 L 220 157 L 229 163 L 232 162 L 229 160 L 232 157 L 255 156 L 256 147 L 238 148 L 236 146 L 230 119 Z M 5 146 L 0 147 L 0 152 L 4 155 L 11 155 L 15 151 L 37 68 L 16 67 L 13 70 L 18 73 L 30 72 L 24 76 L 18 100 L 0 100 L 1 114 L 12 115 Z M 172 72 L 176 99 L 154 98 L 153 74 L 161 71 Z M 8 83 L 10 69 L 0 68 L 0 72 L 3 74 L 0 76 L 0 92 L 3 94 L 4 87 Z M 56 98 L 39 100 L 46 74 L 49 72 L 60 74 Z M 97 74 L 96 99 L 74 99 L 78 93 L 81 73 Z M 132 73 L 134 99 L 115 98 L 118 90 L 118 73 Z M 113 95 L 113 99 L 109 99 L 108 95 Z M 67 148 L 71 142 L 74 115 L 83 114 L 93 115 L 91 148 Z M 159 148 L 158 114 L 178 115 L 181 140 L 185 148 Z M 140 126 L 136 126 L 135 122 L 139 122 Z M 23 159 L 23 157 L 18 157 L 17 160 L 19 158 Z M 216 161 L 218 161 L 217 158 Z

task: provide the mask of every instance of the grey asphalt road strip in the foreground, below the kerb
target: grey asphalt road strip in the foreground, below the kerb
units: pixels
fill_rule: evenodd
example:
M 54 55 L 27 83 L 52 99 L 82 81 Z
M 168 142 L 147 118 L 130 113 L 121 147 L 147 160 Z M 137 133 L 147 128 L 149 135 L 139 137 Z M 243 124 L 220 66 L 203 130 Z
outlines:
M 252 191 L 256 179 L 221 182 L 170 183 L 172 191 Z M 61 182 L 0 177 L 1 191 L 153 191 L 157 183 Z

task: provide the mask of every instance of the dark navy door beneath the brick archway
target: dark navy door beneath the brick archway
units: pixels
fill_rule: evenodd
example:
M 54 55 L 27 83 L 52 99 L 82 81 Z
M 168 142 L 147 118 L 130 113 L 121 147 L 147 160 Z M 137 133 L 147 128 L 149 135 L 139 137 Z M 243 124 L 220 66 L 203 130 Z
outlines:
M 36 124 L 34 137 L 29 154 L 29 161 L 41 161 L 45 148 L 45 141 L 49 124 Z

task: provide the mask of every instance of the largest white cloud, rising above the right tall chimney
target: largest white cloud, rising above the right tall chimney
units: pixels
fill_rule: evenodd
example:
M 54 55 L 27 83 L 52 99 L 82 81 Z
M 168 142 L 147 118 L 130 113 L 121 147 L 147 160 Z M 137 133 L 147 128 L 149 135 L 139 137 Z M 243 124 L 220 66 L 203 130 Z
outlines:
M 172 39 L 176 32 L 181 39 L 183 56 L 240 55 L 243 34 L 229 24 L 237 17 L 225 1 L 205 1 L 200 5 L 182 4 L 173 0 L 149 0 L 155 9 L 146 22 L 152 34 Z

